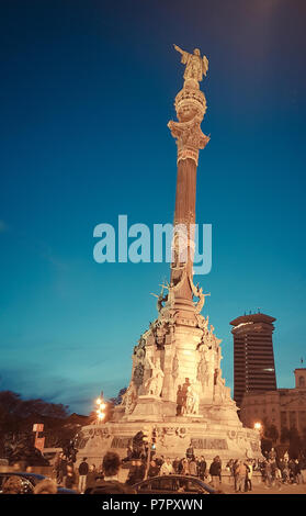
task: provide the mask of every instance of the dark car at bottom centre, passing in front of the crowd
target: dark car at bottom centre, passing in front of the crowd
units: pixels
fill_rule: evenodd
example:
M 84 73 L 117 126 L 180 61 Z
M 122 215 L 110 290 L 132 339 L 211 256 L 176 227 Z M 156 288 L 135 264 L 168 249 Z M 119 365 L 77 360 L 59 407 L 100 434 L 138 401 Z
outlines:
M 216 494 L 217 491 L 196 476 L 165 474 L 133 485 L 137 494 Z

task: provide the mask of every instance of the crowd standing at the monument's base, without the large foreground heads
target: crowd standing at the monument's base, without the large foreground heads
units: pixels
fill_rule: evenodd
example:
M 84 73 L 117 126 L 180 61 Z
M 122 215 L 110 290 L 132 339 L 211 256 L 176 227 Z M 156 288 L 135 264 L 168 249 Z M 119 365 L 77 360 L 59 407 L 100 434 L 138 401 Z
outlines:
M 127 460 L 128 459 L 128 460 Z M 214 460 L 207 464 L 204 456 L 195 456 L 192 448 L 186 450 L 183 458 L 175 457 L 174 460 L 165 457 L 152 457 L 149 464 L 145 458 L 133 459 L 131 449 L 127 450 L 127 459 L 122 461 L 122 465 L 127 467 L 128 475 L 126 485 L 133 486 L 141 482 L 145 478 L 152 478 L 165 474 L 182 474 L 196 476 L 206 483 L 212 484 L 216 490 L 220 489 L 223 474 L 229 476 L 229 483 L 233 485 L 235 492 L 252 491 L 252 475 L 253 472 L 260 472 L 265 489 L 279 487 L 281 490 L 283 484 L 306 483 L 306 459 L 301 458 L 290 459 L 285 453 L 284 458 L 277 458 L 274 449 L 270 451 L 267 458 L 259 459 L 230 459 L 226 464 L 223 464 L 220 458 L 216 456 Z M 65 464 L 65 460 L 64 460 Z M 65 468 L 57 468 L 57 481 L 64 482 L 64 485 L 69 487 L 69 479 L 67 484 Z M 80 463 L 78 468 L 79 481 L 78 490 L 84 493 L 86 490 L 91 490 L 97 482 L 103 480 L 103 467 L 95 468 L 94 464 L 89 465 L 87 459 Z

